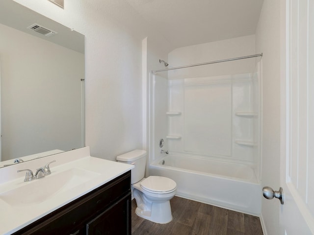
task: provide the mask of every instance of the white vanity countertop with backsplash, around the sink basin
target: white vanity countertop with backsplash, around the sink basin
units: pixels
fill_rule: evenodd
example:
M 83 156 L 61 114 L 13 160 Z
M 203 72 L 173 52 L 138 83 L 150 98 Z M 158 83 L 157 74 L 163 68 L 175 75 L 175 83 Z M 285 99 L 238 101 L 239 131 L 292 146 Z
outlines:
M 1 193 L 11 190 L 12 187 L 16 187 L 16 185 L 25 186 L 26 184 L 32 184 L 34 181 L 37 181 L 24 182 L 25 174 L 22 172 L 17 173 L 17 170 L 29 168 L 35 171 L 36 168 L 44 166 L 53 160 L 56 160 L 56 162 L 50 165 L 52 174 L 37 180 L 45 180 L 46 177 L 65 171 L 69 169 L 69 167 L 90 170 L 95 172 L 96 176 L 92 180 L 88 180 L 74 188 L 56 193 L 43 202 L 27 204 L 27 206 L 18 202 L 15 206 L 12 206 L 0 198 L 0 235 L 10 235 L 24 228 L 26 225 L 68 204 L 93 189 L 104 185 L 134 167 L 131 164 L 117 163 L 91 157 L 89 156 L 89 147 L 84 147 L 38 160 L 36 159 L 30 162 L 0 168 L 1 177 L 6 176 L 4 180 L 2 178 L 2 182 L 0 181 L 0 195 Z M 58 182 L 55 182 L 55 184 L 58 184 Z M 40 188 L 38 188 L 38 190 L 40 190 Z M 27 197 L 27 195 L 21 195 L 21 200 L 23 197 Z

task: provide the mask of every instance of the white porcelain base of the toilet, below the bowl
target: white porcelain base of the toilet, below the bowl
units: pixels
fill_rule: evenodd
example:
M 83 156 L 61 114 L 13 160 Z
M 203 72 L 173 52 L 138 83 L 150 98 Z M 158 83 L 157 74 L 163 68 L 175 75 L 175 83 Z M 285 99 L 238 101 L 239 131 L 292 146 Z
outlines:
M 139 217 L 158 224 L 166 224 L 172 221 L 170 201 L 165 201 L 161 203 L 153 202 L 151 211 L 145 211 L 145 209 L 141 209 L 141 205 L 137 205 L 135 213 Z

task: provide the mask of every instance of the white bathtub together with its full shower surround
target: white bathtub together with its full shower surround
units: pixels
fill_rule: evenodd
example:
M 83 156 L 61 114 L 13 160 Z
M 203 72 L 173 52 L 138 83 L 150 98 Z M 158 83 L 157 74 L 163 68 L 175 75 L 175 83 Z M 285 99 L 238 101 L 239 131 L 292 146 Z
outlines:
M 175 180 L 178 196 L 259 215 L 259 87 L 257 72 L 151 75 L 149 173 Z

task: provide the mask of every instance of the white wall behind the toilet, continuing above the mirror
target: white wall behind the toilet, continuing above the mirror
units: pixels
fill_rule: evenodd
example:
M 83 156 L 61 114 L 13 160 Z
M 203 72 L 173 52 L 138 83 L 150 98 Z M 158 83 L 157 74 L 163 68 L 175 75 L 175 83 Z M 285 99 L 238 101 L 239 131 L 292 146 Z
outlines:
M 168 43 L 157 40 L 125 1 L 67 0 L 64 9 L 49 1 L 15 1 L 85 35 L 86 145 L 91 155 L 115 160 L 142 148 L 142 40 L 149 36 L 149 45 L 161 48 Z

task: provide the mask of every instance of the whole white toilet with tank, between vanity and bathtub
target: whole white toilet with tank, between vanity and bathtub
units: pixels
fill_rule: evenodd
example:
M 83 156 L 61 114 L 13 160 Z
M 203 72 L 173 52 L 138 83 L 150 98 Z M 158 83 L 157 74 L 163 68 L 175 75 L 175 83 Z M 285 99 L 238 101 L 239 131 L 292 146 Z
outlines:
M 145 150 L 135 149 L 117 156 L 117 162 L 134 165 L 131 189 L 137 205 L 135 213 L 152 222 L 166 224 L 172 220 L 170 199 L 176 194 L 177 184 L 162 176 L 144 178 L 146 155 Z

